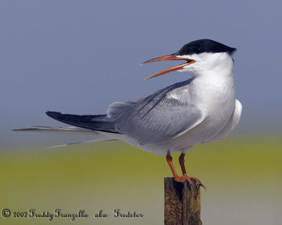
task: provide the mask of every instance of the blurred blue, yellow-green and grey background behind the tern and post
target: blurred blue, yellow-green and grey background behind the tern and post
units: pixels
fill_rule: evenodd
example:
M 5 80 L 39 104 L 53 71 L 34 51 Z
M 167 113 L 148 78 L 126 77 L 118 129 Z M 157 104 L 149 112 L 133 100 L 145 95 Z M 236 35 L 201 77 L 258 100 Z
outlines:
M 243 115 L 231 136 L 186 156 L 207 186 L 203 224 L 281 224 L 281 19 L 280 1 L 1 1 L 0 210 L 90 214 L 74 224 L 164 224 L 164 157 L 119 141 L 46 149 L 91 136 L 11 130 L 63 126 L 44 113 L 101 114 L 114 101 L 188 79 L 171 72 L 145 81 L 176 64 L 140 63 L 207 38 L 238 48 Z M 114 219 L 116 208 L 145 217 Z M 109 217 L 95 220 L 99 210 Z

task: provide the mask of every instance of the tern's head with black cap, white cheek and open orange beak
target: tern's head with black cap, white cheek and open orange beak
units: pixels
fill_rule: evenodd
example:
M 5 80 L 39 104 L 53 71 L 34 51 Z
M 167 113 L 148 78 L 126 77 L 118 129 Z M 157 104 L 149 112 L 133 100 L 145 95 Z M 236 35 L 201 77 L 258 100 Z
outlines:
M 164 60 L 186 61 L 183 64 L 161 70 L 146 79 L 164 75 L 171 71 L 192 72 L 195 74 L 201 70 L 212 70 L 212 68 L 216 68 L 216 66 L 222 63 L 228 63 L 230 60 L 233 60 L 232 54 L 235 50 L 234 48 L 210 39 L 200 39 L 185 44 L 185 46 L 176 53 L 147 60 L 145 63 L 142 63 L 142 65 Z

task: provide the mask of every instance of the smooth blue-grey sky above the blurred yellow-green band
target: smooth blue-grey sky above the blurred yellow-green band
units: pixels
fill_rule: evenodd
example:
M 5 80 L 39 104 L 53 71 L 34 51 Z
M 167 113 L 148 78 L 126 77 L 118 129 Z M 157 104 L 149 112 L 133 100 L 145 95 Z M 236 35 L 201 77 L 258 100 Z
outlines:
M 11 129 L 62 126 L 44 112 L 104 113 L 188 79 L 172 72 L 145 81 L 176 63 L 140 63 L 204 38 L 238 48 L 235 132 L 281 131 L 281 18 L 280 1 L 1 1 L 0 146 L 73 140 Z

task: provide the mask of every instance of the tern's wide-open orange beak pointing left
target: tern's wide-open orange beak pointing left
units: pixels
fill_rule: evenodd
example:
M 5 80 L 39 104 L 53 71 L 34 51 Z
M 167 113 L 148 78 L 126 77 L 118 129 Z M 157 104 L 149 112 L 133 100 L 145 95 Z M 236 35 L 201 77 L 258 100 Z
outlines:
M 146 63 L 158 62 L 158 61 L 165 61 L 165 60 L 186 60 L 187 63 L 176 65 L 176 66 L 173 66 L 172 68 L 167 68 L 166 70 L 161 70 L 160 72 L 157 72 L 154 75 L 149 76 L 145 79 L 150 79 L 152 77 L 158 77 L 160 75 L 164 75 L 164 74 L 171 72 L 171 71 L 181 70 L 181 69 L 183 69 L 183 67 L 185 67 L 185 65 L 190 65 L 192 63 L 195 63 L 195 60 L 188 59 L 188 58 L 176 57 L 176 56 L 174 56 L 174 54 L 171 54 L 171 55 L 161 56 L 161 57 L 158 57 L 158 58 L 153 58 L 151 60 L 147 60 L 145 63 L 142 63 L 141 65 L 146 64 Z

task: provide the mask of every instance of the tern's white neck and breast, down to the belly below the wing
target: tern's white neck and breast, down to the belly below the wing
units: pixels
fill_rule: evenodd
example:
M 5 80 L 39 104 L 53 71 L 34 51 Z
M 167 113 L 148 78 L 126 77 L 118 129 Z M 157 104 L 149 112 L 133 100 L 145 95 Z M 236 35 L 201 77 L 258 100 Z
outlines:
M 232 58 L 221 65 L 214 70 L 202 70 L 188 86 L 173 90 L 168 95 L 169 98 L 195 105 L 204 117 L 196 127 L 164 143 L 171 152 L 181 150 L 185 153 L 197 143 L 214 140 L 231 119 L 235 108 Z

